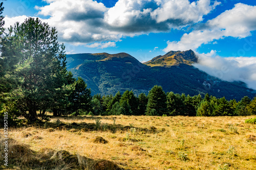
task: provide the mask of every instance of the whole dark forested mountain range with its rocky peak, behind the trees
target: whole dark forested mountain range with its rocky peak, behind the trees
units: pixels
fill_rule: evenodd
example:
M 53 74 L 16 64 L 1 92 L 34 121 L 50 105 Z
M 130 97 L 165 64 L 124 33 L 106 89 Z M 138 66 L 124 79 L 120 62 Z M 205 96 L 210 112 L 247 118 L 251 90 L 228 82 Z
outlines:
M 157 62 L 157 63 L 156 63 Z M 209 76 L 191 64 L 197 62 L 195 53 L 171 51 L 145 64 L 126 53 L 72 54 L 67 55 L 67 68 L 74 77 L 83 78 L 92 95 L 123 93 L 148 93 L 154 85 L 161 85 L 165 92 L 197 95 L 209 93 L 217 98 L 241 100 L 255 91 L 243 82 L 227 82 Z

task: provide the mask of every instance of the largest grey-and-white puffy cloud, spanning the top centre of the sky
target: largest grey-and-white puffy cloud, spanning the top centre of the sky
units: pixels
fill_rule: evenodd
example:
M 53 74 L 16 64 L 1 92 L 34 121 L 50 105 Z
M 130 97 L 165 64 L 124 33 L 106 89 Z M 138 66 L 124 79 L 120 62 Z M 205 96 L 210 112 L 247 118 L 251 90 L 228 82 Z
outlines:
M 36 9 L 49 17 L 42 21 L 57 28 L 59 41 L 92 47 L 114 46 L 122 37 L 186 27 L 202 21 L 220 4 L 210 0 L 119 0 L 106 8 L 93 0 L 45 1 L 47 5 Z

